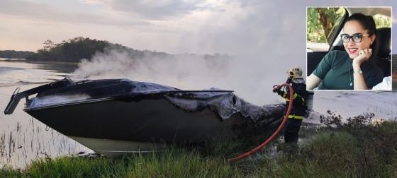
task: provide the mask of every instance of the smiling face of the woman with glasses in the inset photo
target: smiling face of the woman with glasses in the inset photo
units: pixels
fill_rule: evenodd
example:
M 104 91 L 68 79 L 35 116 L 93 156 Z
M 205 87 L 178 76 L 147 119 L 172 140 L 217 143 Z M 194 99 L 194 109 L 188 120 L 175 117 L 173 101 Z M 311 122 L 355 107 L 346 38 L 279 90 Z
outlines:
M 367 30 L 362 28 L 362 25 L 357 20 L 351 20 L 345 23 L 343 27 L 343 33 L 352 36 L 356 33 L 361 33 L 362 35 L 367 35 Z M 361 42 L 354 42 L 352 39 L 349 42 L 343 42 L 343 46 L 345 47 L 346 52 L 349 54 L 351 59 L 359 56 L 359 51 L 362 49 L 369 48 L 372 42 L 375 40 L 375 35 L 371 36 L 362 36 Z

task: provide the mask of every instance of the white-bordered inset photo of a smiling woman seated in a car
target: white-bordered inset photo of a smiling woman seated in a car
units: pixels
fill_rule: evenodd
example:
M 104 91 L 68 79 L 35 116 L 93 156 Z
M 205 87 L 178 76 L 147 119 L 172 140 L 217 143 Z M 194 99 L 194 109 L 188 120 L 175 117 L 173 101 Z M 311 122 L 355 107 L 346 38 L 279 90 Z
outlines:
M 392 90 L 391 7 L 308 7 L 307 90 Z

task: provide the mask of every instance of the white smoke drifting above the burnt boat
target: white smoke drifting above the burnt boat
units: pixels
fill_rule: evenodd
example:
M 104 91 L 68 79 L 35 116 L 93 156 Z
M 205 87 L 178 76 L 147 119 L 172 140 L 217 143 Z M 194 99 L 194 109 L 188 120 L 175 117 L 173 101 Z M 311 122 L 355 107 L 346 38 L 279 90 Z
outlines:
M 181 90 L 220 88 L 256 105 L 279 103 L 272 86 L 285 82 L 285 71 L 266 60 L 228 55 L 160 54 L 107 48 L 91 61 L 84 59 L 72 73 L 77 79 L 128 78 Z M 272 73 L 272 74 L 269 74 Z

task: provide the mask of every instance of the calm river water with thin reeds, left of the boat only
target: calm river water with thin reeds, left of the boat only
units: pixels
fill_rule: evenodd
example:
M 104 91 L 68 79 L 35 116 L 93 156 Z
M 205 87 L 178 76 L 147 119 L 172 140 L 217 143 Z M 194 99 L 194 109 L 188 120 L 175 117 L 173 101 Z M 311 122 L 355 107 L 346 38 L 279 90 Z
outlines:
M 38 158 L 92 152 L 23 112 L 24 100 L 13 114 L 3 113 L 16 88 L 23 91 L 60 80 L 76 68 L 76 64 L 34 64 L 0 59 L 0 168 L 4 165 L 23 168 Z

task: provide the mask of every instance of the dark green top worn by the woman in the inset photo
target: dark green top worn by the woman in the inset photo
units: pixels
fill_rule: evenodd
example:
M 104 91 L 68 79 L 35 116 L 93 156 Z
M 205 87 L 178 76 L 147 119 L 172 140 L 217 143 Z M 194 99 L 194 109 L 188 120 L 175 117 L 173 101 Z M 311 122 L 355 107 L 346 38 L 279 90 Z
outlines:
M 325 55 L 313 71 L 315 76 L 323 80 L 318 85 L 318 90 L 353 90 L 352 62 L 353 60 L 345 51 L 332 51 Z M 383 71 L 369 61 L 364 61 L 361 64 L 361 70 L 364 81 L 370 89 L 381 83 L 384 78 Z

